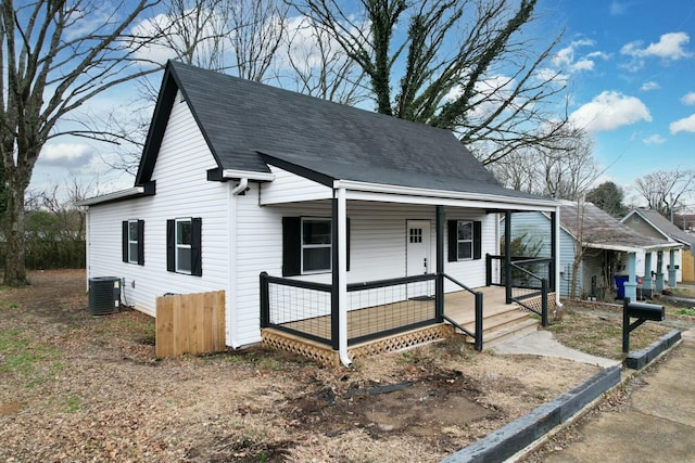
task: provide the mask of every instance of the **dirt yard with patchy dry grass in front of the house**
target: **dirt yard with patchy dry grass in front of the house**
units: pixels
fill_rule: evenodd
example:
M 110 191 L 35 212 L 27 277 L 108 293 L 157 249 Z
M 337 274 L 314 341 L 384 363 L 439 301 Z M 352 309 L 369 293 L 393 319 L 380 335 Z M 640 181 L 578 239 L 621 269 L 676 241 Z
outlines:
M 30 280 L 0 288 L 3 462 L 437 462 L 597 372 L 459 339 L 351 369 L 262 347 L 157 361 L 153 319 L 90 316 L 84 271 Z

